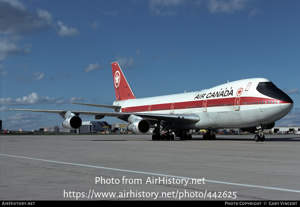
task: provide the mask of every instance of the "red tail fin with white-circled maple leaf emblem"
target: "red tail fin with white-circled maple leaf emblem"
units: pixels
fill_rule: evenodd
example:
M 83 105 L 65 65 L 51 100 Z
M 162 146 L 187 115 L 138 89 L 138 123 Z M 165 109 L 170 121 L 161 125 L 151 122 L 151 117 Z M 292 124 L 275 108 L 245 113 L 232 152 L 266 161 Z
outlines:
M 118 62 L 112 63 L 113 80 L 115 85 L 116 100 L 137 98 L 133 94 Z

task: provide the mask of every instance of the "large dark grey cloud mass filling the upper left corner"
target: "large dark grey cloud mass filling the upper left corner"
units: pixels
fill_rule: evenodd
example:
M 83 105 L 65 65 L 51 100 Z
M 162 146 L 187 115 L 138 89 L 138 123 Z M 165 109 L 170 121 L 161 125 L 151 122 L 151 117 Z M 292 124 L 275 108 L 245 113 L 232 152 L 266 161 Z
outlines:
M 19 39 L 49 28 L 56 30 L 59 36 L 78 35 L 77 29 L 58 21 L 58 29 L 52 20 L 52 14 L 43 9 L 30 11 L 18 0 L 0 0 L 0 61 L 16 54 L 28 54 L 31 45 L 18 45 Z M 4 38 L 5 36 L 5 38 Z

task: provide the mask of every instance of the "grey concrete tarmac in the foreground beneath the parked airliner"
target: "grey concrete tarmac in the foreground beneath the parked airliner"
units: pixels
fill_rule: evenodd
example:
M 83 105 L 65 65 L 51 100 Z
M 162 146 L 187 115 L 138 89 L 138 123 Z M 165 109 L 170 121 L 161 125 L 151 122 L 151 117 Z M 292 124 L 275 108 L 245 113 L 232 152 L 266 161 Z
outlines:
M 265 137 L 1 135 L 0 199 L 299 200 L 300 135 Z

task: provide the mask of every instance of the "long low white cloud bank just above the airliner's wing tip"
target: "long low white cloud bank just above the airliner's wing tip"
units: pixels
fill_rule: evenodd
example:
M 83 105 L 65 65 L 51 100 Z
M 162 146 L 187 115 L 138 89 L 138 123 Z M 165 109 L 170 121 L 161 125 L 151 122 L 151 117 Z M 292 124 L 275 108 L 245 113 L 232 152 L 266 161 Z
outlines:
M 12 99 L 10 97 L 8 98 L 1 98 L 0 99 L 0 105 L 37 105 L 37 104 L 50 104 L 50 103 L 56 103 L 56 104 L 63 104 L 63 103 L 70 103 L 74 101 L 84 101 L 83 98 L 80 97 L 72 97 L 68 100 L 64 99 L 57 99 L 57 98 L 49 98 L 48 96 L 40 96 L 37 93 L 33 92 L 32 94 L 29 94 L 28 96 L 23 96 L 22 98 L 16 98 Z

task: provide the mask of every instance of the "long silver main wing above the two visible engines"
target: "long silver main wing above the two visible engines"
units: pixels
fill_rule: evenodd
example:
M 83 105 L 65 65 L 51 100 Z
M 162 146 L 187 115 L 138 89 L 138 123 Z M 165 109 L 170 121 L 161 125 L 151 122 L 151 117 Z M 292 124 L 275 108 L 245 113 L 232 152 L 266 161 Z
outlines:
M 148 120 L 150 123 L 166 122 L 170 124 L 194 124 L 200 121 L 199 116 L 193 113 L 185 114 L 155 114 L 155 113 L 124 113 L 124 112 L 101 112 L 101 111 L 70 111 L 70 110 L 36 110 L 36 109 L 10 109 L 16 111 L 32 111 L 32 112 L 44 112 L 44 113 L 58 113 L 62 117 L 67 112 L 74 113 L 76 116 L 88 115 L 95 116 L 95 119 L 102 119 L 105 116 L 117 117 L 124 121 L 127 121 L 130 115 L 140 116 L 143 119 Z

